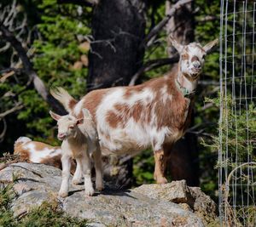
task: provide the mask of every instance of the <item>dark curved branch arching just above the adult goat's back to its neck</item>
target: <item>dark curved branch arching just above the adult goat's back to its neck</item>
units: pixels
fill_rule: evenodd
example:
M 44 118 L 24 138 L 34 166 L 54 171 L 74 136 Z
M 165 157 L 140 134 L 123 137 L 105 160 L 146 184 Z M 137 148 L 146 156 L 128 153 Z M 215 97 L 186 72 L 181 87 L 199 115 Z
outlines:
M 131 82 L 129 83 L 129 86 L 135 85 L 137 78 L 143 75 L 145 71 L 150 71 L 152 69 L 158 68 L 163 65 L 174 64 L 174 63 L 177 63 L 177 61 L 178 61 L 178 55 L 175 55 L 172 58 L 166 58 L 166 59 L 160 59 L 160 60 L 149 60 L 137 71 L 136 74 L 133 75 L 133 77 L 131 77 Z

